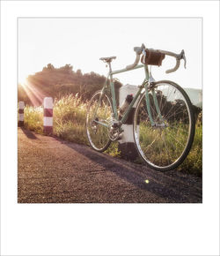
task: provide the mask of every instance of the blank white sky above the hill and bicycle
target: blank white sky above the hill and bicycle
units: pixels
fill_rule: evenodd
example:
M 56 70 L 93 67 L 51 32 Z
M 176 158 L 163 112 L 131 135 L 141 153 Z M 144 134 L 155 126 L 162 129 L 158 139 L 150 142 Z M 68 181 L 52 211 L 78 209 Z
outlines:
M 165 71 L 175 65 L 166 56 L 163 64 L 152 66 L 156 80 L 169 79 L 181 87 L 202 88 L 202 20 L 201 19 L 18 19 L 18 82 L 40 72 L 51 63 L 55 67 L 71 64 L 73 70 L 105 75 L 102 56 L 117 56 L 113 70 L 120 70 L 135 60 L 135 46 L 164 49 L 175 53 L 185 50 L 177 72 Z M 144 71 L 139 69 L 115 75 L 123 84 L 139 85 Z

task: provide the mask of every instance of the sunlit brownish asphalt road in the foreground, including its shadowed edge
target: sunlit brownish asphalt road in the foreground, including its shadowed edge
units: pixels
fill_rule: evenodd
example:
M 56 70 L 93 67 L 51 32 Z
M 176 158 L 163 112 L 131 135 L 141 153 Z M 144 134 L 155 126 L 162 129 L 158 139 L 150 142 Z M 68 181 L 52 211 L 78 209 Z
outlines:
M 202 203 L 202 178 L 18 128 L 18 203 Z

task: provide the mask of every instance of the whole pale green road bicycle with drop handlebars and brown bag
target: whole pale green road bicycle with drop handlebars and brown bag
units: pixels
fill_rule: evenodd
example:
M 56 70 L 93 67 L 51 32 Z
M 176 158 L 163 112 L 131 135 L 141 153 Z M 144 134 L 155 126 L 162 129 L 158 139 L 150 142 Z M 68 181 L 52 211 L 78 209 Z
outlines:
M 194 113 L 186 92 L 169 80 L 155 81 L 148 65 L 161 65 L 165 56 L 176 58 L 176 65 L 166 73 L 175 72 L 180 60 L 186 56 L 159 49 L 135 47 L 136 60 L 125 69 L 112 71 L 111 62 L 116 56 L 102 57 L 109 66 L 106 82 L 101 90 L 92 95 L 86 115 L 86 132 L 90 145 L 99 152 L 105 151 L 112 141 L 120 139 L 121 125 L 128 118 L 130 110 L 136 109 L 133 117 L 133 135 L 138 154 L 150 168 L 166 171 L 185 160 L 194 139 Z M 142 58 L 141 58 L 142 56 Z M 141 58 L 142 64 L 138 64 Z M 113 75 L 143 68 L 145 79 L 126 108 L 117 109 Z M 110 93 L 109 93 L 110 87 Z M 123 104 L 124 105 L 124 104 Z M 121 109 L 123 111 L 121 111 Z

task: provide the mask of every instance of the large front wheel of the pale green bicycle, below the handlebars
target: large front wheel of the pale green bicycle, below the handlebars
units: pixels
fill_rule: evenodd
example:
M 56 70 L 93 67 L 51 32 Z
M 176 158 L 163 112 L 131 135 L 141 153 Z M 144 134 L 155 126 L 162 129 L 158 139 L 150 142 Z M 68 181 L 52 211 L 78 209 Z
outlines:
M 194 122 L 186 92 L 172 81 L 158 81 L 149 89 L 149 106 L 144 93 L 134 116 L 134 139 L 143 161 L 161 171 L 179 166 L 192 146 Z

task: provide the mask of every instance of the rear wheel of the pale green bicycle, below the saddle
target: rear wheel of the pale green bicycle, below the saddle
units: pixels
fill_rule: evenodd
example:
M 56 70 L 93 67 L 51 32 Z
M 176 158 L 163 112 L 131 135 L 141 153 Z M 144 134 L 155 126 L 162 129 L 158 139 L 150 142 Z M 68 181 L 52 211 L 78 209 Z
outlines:
M 107 94 L 98 91 L 92 95 L 86 115 L 86 132 L 90 145 L 96 151 L 105 151 L 111 143 L 108 127 L 112 120 L 112 109 Z

